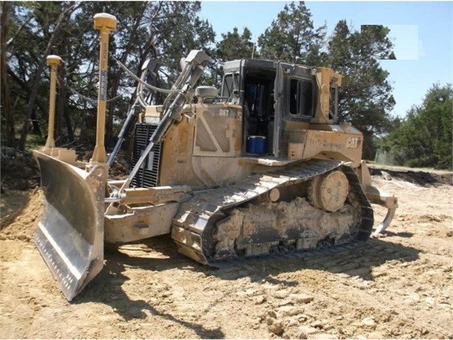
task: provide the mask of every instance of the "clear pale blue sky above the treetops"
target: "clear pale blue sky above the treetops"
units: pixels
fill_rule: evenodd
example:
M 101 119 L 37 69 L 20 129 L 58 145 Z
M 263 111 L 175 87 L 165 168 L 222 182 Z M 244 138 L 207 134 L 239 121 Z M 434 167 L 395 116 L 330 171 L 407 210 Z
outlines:
M 271 26 L 285 1 L 202 1 L 201 18 L 208 19 L 216 32 L 239 33 L 247 27 L 252 41 Z M 433 84 L 453 83 L 453 1 L 306 1 L 313 26 L 325 22 L 328 34 L 345 19 L 349 28 L 362 25 L 390 28 L 397 60 L 381 60 L 389 72 L 396 105 L 393 116 L 406 116 L 420 105 Z

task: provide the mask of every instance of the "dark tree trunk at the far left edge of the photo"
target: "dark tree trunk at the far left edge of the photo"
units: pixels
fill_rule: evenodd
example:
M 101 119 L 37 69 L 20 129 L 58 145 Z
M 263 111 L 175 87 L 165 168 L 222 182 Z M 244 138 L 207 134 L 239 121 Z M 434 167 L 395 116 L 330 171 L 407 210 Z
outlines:
M 1 8 L 1 52 L 0 52 L 0 72 L 1 72 L 1 98 L 3 99 L 4 126 L 6 133 L 6 145 L 13 148 L 16 144 L 16 129 L 14 128 L 13 112 L 11 111 L 11 98 L 9 97 L 8 81 L 6 79 L 6 38 L 8 36 L 8 13 L 10 4 L 8 1 L 2 3 Z

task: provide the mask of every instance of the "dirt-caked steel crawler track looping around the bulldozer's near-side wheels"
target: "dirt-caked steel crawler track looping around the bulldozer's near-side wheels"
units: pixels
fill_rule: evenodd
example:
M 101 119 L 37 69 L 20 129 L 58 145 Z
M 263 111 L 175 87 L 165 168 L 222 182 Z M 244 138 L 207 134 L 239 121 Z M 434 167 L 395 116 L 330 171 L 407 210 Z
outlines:
M 341 170 L 349 182 L 348 200 L 354 205 L 356 221 L 351 234 L 347 233 L 341 239 L 321 242 L 311 231 L 301 232 L 300 228 L 297 230 L 289 228 L 280 233 L 269 228 L 254 229 L 247 235 L 243 229 L 241 231 L 228 229 L 223 235 L 218 236 L 220 233 L 217 222 L 225 221 L 226 216 L 232 216 L 231 224 L 238 225 L 234 220 L 233 215 L 237 213 L 234 209 L 245 209 L 247 202 L 257 202 L 257 199 L 266 197 L 275 188 L 296 187 L 303 183 L 308 186 L 311 180 L 328 174 L 332 170 Z M 306 204 L 306 202 L 301 202 L 301 204 Z M 262 209 L 261 212 L 256 213 L 257 216 L 266 213 L 267 208 Z M 311 207 L 311 209 L 314 208 Z M 249 212 L 244 212 L 244 215 L 247 214 Z M 335 214 L 328 215 L 330 221 L 340 219 L 340 216 Z M 306 219 L 310 219 L 310 217 Z M 354 170 L 337 161 L 315 160 L 302 163 L 297 168 L 265 175 L 252 175 L 243 182 L 228 187 L 196 192 L 193 199 L 181 204 L 181 208 L 174 218 L 172 238 L 176 241 L 180 253 L 200 263 L 218 266 L 216 261 L 218 259 L 230 261 L 237 257 L 291 253 L 292 251 L 311 250 L 319 246 L 330 247 L 334 244 L 337 246 L 354 240 L 366 241 L 371 234 L 373 221 L 373 211 Z

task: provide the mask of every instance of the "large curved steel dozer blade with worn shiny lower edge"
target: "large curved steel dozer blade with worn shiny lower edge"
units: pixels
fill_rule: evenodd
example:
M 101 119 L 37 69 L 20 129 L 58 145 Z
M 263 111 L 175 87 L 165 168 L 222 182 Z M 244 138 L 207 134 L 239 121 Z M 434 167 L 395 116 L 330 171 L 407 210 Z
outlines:
M 86 172 L 33 151 L 41 173 L 45 207 L 35 243 L 71 301 L 104 265 L 106 170 Z

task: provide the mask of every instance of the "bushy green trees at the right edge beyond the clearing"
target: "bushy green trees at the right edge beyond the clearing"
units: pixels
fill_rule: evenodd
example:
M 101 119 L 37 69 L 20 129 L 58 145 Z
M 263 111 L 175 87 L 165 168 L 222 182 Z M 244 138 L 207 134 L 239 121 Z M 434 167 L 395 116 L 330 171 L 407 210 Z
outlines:
M 452 108 L 452 85 L 432 85 L 420 106 L 394 121 L 384 148 L 393 150 L 398 165 L 452 169 Z

